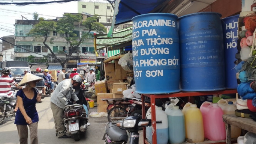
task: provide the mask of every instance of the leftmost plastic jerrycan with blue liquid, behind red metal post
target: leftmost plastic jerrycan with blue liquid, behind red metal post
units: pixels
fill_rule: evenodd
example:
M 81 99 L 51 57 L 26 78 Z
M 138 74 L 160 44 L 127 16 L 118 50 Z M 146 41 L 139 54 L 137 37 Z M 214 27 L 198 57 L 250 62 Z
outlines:
M 160 106 L 155 106 L 155 109 L 156 120 L 162 121 L 161 124 L 156 124 L 157 144 L 167 144 L 169 138 L 167 114 Z M 147 110 L 146 116 L 148 119 L 151 119 L 151 107 Z M 152 126 L 146 127 L 146 138 L 147 141 L 152 144 Z

